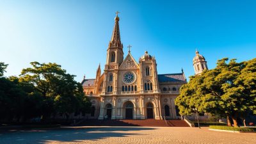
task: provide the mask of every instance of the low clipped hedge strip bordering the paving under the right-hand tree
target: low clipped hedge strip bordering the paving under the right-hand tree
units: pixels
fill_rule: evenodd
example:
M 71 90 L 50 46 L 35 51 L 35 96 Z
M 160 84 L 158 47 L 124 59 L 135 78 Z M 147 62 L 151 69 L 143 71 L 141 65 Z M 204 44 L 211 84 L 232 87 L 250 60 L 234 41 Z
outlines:
M 227 131 L 256 132 L 256 127 L 227 127 L 220 125 L 210 125 L 209 129 L 221 129 Z

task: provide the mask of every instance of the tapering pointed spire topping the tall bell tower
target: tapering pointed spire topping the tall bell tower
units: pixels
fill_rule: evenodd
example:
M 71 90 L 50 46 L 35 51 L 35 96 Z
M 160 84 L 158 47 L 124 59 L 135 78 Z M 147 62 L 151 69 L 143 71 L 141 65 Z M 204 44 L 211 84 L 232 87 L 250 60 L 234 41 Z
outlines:
M 120 30 L 119 30 L 118 13 L 120 13 L 120 12 L 118 12 L 118 11 L 116 12 L 115 26 L 113 29 L 111 40 L 109 42 L 109 47 L 122 47 L 121 38 L 120 38 Z

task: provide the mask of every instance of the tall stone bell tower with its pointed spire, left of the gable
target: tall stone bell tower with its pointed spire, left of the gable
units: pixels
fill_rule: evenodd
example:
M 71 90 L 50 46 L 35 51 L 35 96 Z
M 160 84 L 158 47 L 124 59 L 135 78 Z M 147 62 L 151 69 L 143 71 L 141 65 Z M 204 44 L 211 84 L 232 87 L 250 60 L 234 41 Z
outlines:
M 118 68 L 124 60 L 123 44 L 120 38 L 119 17 L 116 12 L 115 26 L 107 50 L 107 61 L 105 69 Z

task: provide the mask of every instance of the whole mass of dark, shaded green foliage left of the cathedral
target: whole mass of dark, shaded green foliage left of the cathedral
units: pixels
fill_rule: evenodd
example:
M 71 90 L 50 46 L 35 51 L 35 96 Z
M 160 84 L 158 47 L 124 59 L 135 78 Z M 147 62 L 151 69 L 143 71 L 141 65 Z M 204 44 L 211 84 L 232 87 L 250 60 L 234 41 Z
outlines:
M 22 122 L 29 118 L 47 118 L 56 114 L 89 112 L 90 100 L 74 75 L 56 63 L 32 62 L 20 77 L 0 77 L 1 120 Z M 3 74 L 7 65 L 0 63 Z

